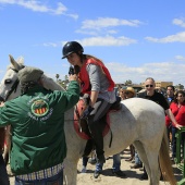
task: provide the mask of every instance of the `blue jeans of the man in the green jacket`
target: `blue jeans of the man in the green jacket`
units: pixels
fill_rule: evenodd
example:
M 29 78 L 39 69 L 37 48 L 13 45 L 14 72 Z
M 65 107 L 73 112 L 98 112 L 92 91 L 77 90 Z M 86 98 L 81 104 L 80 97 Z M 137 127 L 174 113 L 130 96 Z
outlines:
M 38 181 L 20 181 L 15 177 L 15 185 L 63 185 L 63 170 L 54 176 Z

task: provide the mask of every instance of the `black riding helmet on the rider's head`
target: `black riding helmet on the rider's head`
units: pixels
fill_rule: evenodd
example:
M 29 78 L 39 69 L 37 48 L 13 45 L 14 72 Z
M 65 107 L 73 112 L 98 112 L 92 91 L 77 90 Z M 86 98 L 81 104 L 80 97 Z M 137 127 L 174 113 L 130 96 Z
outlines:
M 73 52 L 75 52 L 75 53 L 83 53 L 84 52 L 84 48 L 77 41 L 67 41 L 64 45 L 62 52 L 63 52 L 62 59 L 64 59 L 69 54 L 71 54 Z

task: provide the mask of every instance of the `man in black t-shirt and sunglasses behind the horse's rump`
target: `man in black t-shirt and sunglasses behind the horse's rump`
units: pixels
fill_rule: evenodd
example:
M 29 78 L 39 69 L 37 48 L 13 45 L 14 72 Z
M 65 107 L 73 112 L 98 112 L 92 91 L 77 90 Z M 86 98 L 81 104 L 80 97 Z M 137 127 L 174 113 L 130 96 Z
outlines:
M 176 128 L 181 130 L 182 125 L 178 124 L 177 121 L 175 120 L 166 99 L 164 98 L 164 96 L 162 94 L 157 92 L 155 90 L 155 87 L 156 87 L 155 79 L 152 77 L 146 78 L 146 81 L 145 81 L 145 89 L 146 90 L 144 92 L 139 92 L 137 95 L 137 97 L 145 98 L 145 99 L 155 101 L 158 104 L 160 104 L 164 109 L 165 114 L 173 122 L 174 126 Z M 148 180 L 148 174 L 147 174 L 145 168 L 144 168 L 144 174 L 141 175 L 140 180 Z

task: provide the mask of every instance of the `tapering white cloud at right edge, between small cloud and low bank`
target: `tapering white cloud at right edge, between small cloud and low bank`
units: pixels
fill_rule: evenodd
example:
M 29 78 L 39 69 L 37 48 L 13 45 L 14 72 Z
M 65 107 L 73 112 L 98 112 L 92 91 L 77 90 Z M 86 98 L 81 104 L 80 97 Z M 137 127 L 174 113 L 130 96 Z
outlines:
M 155 38 L 155 37 L 145 37 L 146 40 L 152 42 L 161 42 L 161 44 L 169 44 L 169 42 L 185 42 L 185 32 L 177 33 L 175 35 L 170 35 L 163 38 Z

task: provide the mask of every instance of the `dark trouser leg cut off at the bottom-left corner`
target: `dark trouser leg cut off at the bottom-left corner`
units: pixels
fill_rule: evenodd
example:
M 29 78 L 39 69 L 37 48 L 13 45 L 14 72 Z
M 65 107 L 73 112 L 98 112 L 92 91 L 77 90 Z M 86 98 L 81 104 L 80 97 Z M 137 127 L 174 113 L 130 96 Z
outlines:
M 7 173 L 7 166 L 2 155 L 0 155 L 0 185 L 10 185 L 9 175 Z

